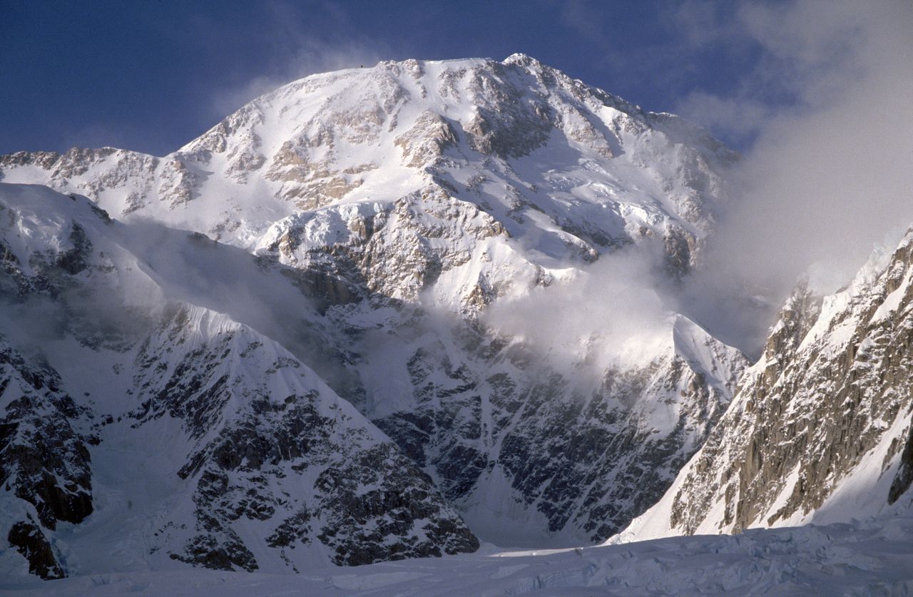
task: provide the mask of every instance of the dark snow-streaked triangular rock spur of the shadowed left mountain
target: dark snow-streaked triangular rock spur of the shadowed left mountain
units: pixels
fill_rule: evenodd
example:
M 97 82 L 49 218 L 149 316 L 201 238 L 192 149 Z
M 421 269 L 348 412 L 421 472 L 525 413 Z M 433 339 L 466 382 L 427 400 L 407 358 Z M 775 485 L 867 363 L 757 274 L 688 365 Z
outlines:
M 201 345 L 198 335 L 213 327 L 222 330 Z M 169 414 L 196 440 L 177 474 L 195 482 L 197 534 L 177 559 L 257 569 L 246 544 L 263 539 L 242 539 L 243 520 L 275 526 L 266 543 L 289 562 L 287 550 L 310 543 L 330 548 L 340 565 L 477 549 L 430 479 L 350 404 L 288 352 L 233 328 L 179 310 L 137 355 L 142 408 L 134 416 Z M 175 344 L 197 348 L 170 374 L 156 371 L 175 362 Z M 298 386 L 284 381 L 296 377 Z

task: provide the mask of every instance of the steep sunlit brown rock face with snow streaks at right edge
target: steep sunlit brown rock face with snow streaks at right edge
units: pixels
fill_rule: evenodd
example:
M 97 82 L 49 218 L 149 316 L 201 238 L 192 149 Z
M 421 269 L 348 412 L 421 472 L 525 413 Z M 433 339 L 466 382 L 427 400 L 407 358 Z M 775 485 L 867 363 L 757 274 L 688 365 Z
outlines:
M 911 282 L 913 231 L 834 295 L 796 288 L 706 444 L 619 539 L 908 511 Z

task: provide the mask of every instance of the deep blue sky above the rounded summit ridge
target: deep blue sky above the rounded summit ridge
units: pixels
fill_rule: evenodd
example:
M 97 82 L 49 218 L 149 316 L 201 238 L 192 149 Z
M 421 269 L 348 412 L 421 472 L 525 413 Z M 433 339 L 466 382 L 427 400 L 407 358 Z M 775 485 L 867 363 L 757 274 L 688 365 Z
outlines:
M 771 4 L 771 3 L 767 3 Z M 171 152 L 258 93 L 333 68 L 523 52 L 647 110 L 743 93 L 769 52 L 743 6 L 640 2 L 14 2 L 0 18 L 0 153 Z M 765 87 L 767 91 L 771 88 Z M 790 103 L 768 93 L 761 111 Z M 757 99 L 755 102 L 757 103 Z M 748 116 L 759 105 L 749 106 Z M 704 122 L 740 146 L 745 106 Z

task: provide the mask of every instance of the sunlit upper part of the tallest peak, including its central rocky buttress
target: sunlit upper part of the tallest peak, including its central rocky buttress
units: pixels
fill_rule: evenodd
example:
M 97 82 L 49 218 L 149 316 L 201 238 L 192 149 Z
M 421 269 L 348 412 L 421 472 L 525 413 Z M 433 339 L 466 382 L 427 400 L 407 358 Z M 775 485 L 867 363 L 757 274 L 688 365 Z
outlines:
M 332 298 L 434 287 L 458 309 L 648 236 L 686 269 L 734 159 L 677 117 L 514 55 L 314 75 L 163 158 L 20 152 L 0 173 L 85 194 L 117 218 L 339 268 Z

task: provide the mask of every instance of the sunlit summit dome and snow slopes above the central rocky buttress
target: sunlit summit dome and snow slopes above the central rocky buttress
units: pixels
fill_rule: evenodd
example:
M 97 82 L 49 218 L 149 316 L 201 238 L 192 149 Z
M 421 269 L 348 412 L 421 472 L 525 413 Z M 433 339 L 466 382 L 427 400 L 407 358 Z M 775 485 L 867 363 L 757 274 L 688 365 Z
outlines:
M 719 171 L 734 159 L 672 115 L 518 54 L 313 75 L 162 158 L 19 152 L 0 173 L 247 248 L 301 211 L 370 210 L 436 186 L 556 257 L 646 235 L 693 241 L 712 225 Z

